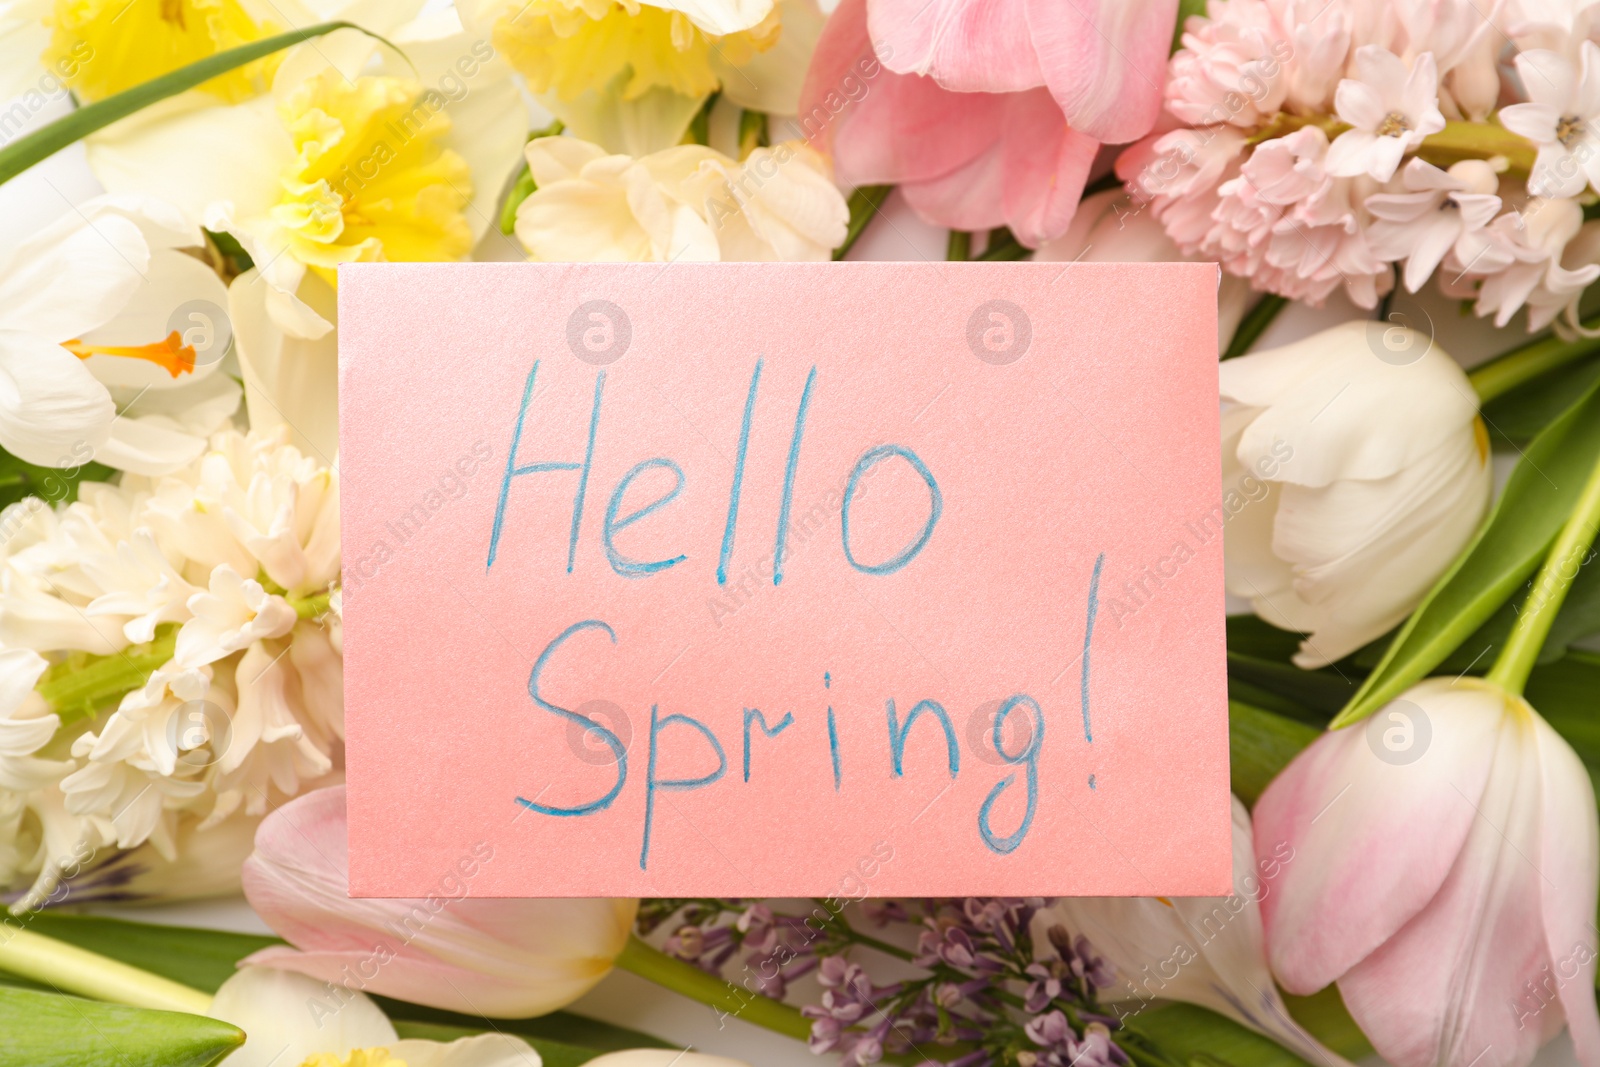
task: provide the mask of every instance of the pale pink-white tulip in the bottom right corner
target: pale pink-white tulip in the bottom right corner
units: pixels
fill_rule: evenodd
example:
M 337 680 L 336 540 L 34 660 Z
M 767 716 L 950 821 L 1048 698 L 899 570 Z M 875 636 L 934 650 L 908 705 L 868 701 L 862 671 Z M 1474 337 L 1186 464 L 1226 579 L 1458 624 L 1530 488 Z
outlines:
M 1398 1067 L 1520 1067 L 1563 1024 L 1600 1064 L 1600 821 L 1526 701 L 1422 681 L 1302 752 L 1254 822 L 1258 856 L 1293 849 L 1261 901 L 1283 989 L 1338 981 Z

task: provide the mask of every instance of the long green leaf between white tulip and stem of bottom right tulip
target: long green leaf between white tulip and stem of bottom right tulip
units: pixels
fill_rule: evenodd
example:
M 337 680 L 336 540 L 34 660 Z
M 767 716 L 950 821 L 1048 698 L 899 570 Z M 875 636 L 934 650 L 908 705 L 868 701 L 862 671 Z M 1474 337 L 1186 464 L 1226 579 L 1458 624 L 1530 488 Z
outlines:
M 1600 381 L 1528 443 L 1488 520 L 1400 627 L 1333 726 L 1371 715 L 1493 617 L 1549 552 L 1597 456 Z

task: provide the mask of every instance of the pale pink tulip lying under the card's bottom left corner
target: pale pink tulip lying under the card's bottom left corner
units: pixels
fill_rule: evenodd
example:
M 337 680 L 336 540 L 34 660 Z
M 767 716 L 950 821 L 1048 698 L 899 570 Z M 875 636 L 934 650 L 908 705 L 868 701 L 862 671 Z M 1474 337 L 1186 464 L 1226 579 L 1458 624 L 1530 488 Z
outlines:
M 430 1008 L 525 1017 L 582 997 L 627 942 L 638 901 L 474 897 L 474 877 L 494 862 L 488 845 L 442 870 L 430 897 L 350 899 L 347 829 L 342 785 L 266 817 L 245 861 L 245 896 L 294 949 L 264 949 L 245 963 Z

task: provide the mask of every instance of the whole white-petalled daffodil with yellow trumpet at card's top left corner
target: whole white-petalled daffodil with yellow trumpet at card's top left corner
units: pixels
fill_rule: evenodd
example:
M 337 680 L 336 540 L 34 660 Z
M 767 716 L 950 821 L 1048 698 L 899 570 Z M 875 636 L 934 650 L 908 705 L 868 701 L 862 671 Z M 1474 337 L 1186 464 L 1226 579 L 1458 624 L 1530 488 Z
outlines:
M 328 34 L 285 53 L 269 94 L 184 94 L 86 142 L 107 189 L 163 190 L 250 253 L 227 304 L 251 426 L 288 426 L 323 462 L 338 451 L 338 266 L 464 259 L 526 134 L 510 69 L 454 10 L 390 40 L 402 51 Z

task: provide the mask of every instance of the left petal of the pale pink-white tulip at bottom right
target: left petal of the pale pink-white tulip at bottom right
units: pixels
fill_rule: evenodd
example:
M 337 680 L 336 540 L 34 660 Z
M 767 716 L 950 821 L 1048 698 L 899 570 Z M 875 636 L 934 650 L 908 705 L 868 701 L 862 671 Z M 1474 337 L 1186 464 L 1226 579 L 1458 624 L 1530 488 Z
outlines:
M 1477 819 L 1501 709 L 1482 683 L 1432 678 L 1373 725 L 1318 737 L 1256 803 L 1256 856 L 1293 849 L 1261 912 L 1278 982 L 1314 993 L 1365 960 L 1438 893 Z M 1432 737 L 1411 763 L 1371 741 L 1426 705 Z M 1400 715 L 1400 718 L 1395 718 Z M 1416 737 L 1418 734 L 1413 734 Z M 1374 862 L 1382 857 L 1384 862 Z

